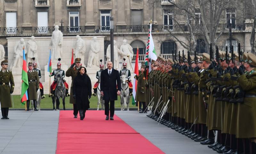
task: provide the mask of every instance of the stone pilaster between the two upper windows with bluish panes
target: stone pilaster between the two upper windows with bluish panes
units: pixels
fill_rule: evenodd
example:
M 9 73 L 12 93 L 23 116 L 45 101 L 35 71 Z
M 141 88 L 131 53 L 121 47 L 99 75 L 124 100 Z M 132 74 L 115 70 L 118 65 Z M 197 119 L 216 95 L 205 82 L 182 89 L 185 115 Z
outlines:
M 94 19 L 93 19 L 93 0 L 86 0 L 86 23 L 85 26 L 94 26 Z

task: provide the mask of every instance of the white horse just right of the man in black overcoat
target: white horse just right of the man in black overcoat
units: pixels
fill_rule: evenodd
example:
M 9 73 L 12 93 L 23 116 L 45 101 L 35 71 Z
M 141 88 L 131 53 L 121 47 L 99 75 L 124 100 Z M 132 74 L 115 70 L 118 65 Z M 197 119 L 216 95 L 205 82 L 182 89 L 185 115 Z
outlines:
M 121 75 L 121 111 L 124 111 L 125 106 L 127 105 L 127 111 L 129 111 L 130 95 L 129 95 L 129 84 L 126 75 Z M 126 102 L 124 101 L 126 97 Z

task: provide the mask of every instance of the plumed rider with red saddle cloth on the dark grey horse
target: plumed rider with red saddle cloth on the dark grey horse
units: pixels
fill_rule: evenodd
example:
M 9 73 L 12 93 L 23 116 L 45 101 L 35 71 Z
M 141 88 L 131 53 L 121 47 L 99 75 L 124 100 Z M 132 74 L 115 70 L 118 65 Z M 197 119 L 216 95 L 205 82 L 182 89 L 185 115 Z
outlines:
M 61 67 L 60 60 L 61 59 L 59 58 L 58 59 L 58 63 L 57 63 L 57 69 L 55 69 L 52 72 L 52 74 L 49 75 L 49 76 L 54 76 L 54 81 L 53 81 L 53 83 L 51 85 L 51 95 L 50 95 L 50 97 L 53 96 L 55 88 L 57 86 L 57 77 L 58 77 L 58 75 L 60 75 L 62 77 L 62 80 L 64 82 L 64 85 L 65 85 L 65 88 L 66 88 L 66 96 L 70 96 L 70 94 L 68 93 L 68 83 L 64 80 L 65 71 L 60 68 Z

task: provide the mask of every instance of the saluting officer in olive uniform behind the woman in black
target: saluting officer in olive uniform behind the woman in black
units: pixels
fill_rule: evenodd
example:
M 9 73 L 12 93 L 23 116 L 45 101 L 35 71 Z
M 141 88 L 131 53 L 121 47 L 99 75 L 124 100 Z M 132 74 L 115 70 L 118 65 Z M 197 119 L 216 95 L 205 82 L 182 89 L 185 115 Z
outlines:
M 75 66 L 75 67 L 74 67 Z M 66 76 L 72 78 L 71 88 L 70 88 L 70 99 L 69 103 L 73 104 L 73 114 L 74 118 L 77 118 L 78 110 L 76 109 L 76 99 L 73 97 L 73 81 L 78 73 L 79 68 L 81 67 L 81 58 L 76 58 L 75 63 L 73 63 L 67 70 Z

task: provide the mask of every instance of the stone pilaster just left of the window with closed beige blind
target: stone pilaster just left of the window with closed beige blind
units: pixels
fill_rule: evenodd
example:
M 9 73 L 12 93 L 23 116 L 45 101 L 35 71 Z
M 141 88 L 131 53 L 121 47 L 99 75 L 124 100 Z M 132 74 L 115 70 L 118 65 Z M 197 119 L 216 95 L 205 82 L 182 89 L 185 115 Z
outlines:
M 117 22 L 116 25 L 126 25 L 125 22 L 125 3 L 124 0 L 116 0 L 117 2 Z

